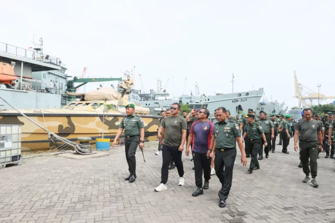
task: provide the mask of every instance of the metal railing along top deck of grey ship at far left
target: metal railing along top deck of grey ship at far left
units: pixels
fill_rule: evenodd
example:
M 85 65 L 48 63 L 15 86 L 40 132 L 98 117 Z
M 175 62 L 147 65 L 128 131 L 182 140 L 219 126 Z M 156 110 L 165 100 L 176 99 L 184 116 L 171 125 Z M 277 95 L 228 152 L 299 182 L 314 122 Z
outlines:
M 0 42 L 0 52 L 15 55 L 17 57 L 23 57 L 27 59 L 31 59 L 34 61 L 44 62 L 44 63 L 52 63 L 60 66 L 66 66 L 63 64 L 61 59 L 58 57 L 53 57 L 50 55 L 38 53 L 37 51 L 27 50 L 21 47 L 13 46 L 7 43 Z

